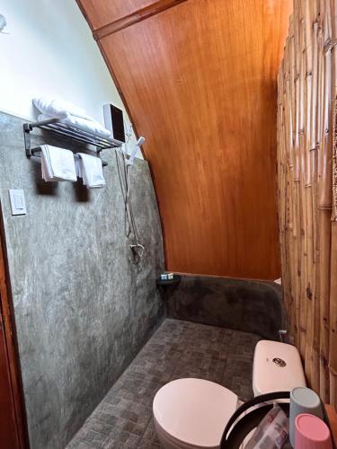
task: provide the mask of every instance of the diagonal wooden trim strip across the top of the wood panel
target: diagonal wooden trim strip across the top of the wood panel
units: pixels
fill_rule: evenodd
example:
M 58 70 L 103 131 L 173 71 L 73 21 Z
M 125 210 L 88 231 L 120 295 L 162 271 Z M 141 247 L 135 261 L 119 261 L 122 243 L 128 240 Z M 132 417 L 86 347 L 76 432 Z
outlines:
M 167 9 L 176 6 L 177 4 L 181 4 L 182 2 L 186 2 L 187 0 L 158 0 L 154 4 L 149 4 L 142 9 L 138 9 L 134 13 L 130 13 L 125 17 L 121 17 L 120 19 L 110 22 L 101 28 L 93 31 L 93 38 L 95 40 L 101 40 L 114 32 L 124 30 L 131 25 L 134 25 L 137 22 L 144 21 L 153 15 L 158 13 L 163 13 Z M 80 3 L 80 1 L 79 1 Z M 83 8 L 81 8 L 83 9 Z

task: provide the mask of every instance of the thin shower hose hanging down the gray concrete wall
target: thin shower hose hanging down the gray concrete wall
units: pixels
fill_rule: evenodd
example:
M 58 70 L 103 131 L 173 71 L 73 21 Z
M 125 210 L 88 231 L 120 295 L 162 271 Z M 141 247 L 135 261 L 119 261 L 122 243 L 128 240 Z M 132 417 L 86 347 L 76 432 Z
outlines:
M 127 135 L 127 144 L 129 142 L 129 135 Z M 126 144 L 126 145 L 127 145 Z M 117 169 L 120 178 L 120 188 L 124 199 L 125 210 L 125 235 L 129 238 L 131 232 L 135 236 L 136 243 L 131 244 L 130 248 L 141 259 L 144 255 L 145 248 L 139 241 L 139 234 L 137 231 L 137 225 L 135 222 L 135 216 L 133 214 L 131 205 L 131 190 L 130 190 L 130 167 L 126 151 L 116 150 Z

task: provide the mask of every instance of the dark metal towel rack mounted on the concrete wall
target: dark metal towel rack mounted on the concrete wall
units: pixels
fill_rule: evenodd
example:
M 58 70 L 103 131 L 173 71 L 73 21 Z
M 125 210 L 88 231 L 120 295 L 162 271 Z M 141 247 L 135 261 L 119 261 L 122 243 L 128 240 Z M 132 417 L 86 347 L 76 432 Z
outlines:
M 24 148 L 27 157 L 39 156 L 39 153 L 41 152 L 40 146 L 31 148 L 31 131 L 34 128 L 48 130 L 52 134 L 68 137 L 75 142 L 93 145 L 96 147 L 98 157 L 100 157 L 102 150 L 108 148 L 118 148 L 122 145 L 122 143 L 118 140 L 97 136 L 89 131 L 84 131 L 83 129 L 67 125 L 67 123 L 62 122 L 62 119 L 48 119 L 23 124 Z M 108 163 L 102 162 L 102 165 L 106 166 Z

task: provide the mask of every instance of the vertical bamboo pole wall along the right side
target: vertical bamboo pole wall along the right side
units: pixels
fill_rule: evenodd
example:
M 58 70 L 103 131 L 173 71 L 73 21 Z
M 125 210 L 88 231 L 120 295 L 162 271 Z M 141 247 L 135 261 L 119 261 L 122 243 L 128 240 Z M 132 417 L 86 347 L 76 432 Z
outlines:
M 289 326 L 337 406 L 337 0 L 294 0 L 279 69 L 278 196 Z

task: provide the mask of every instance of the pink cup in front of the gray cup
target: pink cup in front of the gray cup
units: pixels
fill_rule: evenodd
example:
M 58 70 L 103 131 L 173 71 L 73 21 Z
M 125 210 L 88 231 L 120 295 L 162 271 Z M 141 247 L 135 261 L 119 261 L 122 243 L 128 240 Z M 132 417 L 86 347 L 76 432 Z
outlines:
M 295 449 L 333 449 L 329 427 L 308 413 L 295 419 Z

